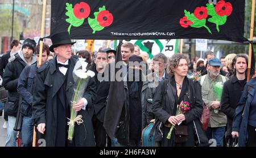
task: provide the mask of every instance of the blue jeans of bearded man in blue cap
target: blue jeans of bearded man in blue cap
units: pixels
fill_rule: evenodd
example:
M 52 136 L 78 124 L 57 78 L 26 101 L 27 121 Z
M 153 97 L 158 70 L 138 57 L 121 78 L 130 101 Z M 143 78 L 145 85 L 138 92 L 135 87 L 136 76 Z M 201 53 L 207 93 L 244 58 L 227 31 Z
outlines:
M 225 127 L 208 127 L 206 134 L 208 139 L 215 139 L 217 147 L 223 147 L 223 139 L 225 135 Z

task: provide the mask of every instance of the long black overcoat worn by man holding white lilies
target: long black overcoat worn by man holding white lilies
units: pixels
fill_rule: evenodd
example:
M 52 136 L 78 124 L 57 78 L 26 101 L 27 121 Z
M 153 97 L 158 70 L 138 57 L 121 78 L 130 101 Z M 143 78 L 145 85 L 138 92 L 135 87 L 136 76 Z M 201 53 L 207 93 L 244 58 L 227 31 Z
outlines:
M 71 101 L 74 87 L 73 69 L 78 58 L 72 56 L 70 59 L 66 97 Z M 57 92 L 65 81 L 63 74 L 57 71 L 55 59 L 43 64 L 35 77 L 35 91 L 32 102 L 32 113 L 35 123 L 46 123 L 46 131 L 43 138 L 46 140 L 46 146 L 52 147 L 56 143 L 57 131 Z M 94 135 L 92 125 L 93 106 L 92 101 L 96 92 L 95 81 L 89 78 L 88 86 L 84 93 L 88 105 L 86 110 L 80 110 L 78 115 L 82 115 L 83 123 L 75 124 L 74 144 L 75 146 L 94 146 Z

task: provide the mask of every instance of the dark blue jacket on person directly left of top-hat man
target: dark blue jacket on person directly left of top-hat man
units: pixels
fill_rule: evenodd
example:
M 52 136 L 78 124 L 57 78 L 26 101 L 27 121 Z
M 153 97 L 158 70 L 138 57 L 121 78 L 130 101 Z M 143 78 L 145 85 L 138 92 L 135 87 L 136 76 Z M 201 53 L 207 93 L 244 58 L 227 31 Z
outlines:
M 34 90 L 34 78 L 36 75 L 36 63 L 31 66 L 26 66 L 22 73 L 20 73 L 18 80 L 18 93 L 22 96 L 22 106 L 20 113 L 24 116 L 32 116 L 32 101 L 33 101 L 33 90 Z

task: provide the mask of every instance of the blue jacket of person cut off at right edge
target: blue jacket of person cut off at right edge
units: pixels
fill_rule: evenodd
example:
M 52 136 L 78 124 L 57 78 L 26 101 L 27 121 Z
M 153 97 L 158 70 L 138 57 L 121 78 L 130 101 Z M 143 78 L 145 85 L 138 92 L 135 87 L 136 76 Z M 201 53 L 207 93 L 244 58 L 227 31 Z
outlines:
M 249 92 L 248 86 L 250 86 Z M 248 118 L 249 118 L 249 109 L 251 101 L 255 95 L 256 89 L 256 78 L 251 79 L 243 89 L 242 96 L 240 98 L 240 102 L 236 108 L 236 115 L 233 120 L 233 128 L 232 131 L 239 132 L 238 137 L 238 144 L 240 147 L 245 147 L 246 142 L 248 140 L 248 133 L 247 133 L 247 125 L 248 125 Z

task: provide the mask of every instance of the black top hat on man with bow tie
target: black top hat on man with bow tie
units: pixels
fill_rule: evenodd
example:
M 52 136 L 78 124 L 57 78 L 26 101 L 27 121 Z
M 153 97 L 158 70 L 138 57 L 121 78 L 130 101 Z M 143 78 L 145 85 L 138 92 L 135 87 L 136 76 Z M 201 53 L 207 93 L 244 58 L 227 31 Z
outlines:
M 52 45 L 51 47 L 49 47 L 49 50 L 51 52 L 54 52 L 53 48 L 59 47 L 60 45 L 64 45 L 64 44 L 73 45 L 76 43 L 76 41 L 75 42 L 71 41 L 68 31 L 59 32 L 57 34 L 52 35 L 51 40 L 52 40 Z

